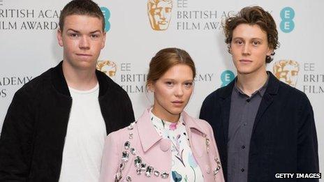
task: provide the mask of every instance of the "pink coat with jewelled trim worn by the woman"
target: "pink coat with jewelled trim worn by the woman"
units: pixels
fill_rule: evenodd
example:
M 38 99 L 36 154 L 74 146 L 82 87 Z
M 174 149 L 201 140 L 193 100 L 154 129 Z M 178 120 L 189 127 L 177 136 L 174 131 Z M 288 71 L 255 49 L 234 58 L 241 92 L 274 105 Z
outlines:
M 189 144 L 196 158 L 205 181 L 224 181 L 219 152 L 209 123 L 182 113 Z M 135 152 L 133 152 L 135 149 Z M 149 109 L 137 122 L 126 128 L 110 133 L 105 141 L 100 182 L 119 181 L 170 181 L 171 142 L 163 139 L 154 128 L 149 118 Z M 124 154 L 123 154 L 124 153 Z M 121 158 L 123 158 L 122 160 Z M 127 157 L 128 156 L 128 157 Z M 142 170 L 135 167 L 135 160 L 149 167 Z M 141 172 L 141 174 L 137 174 Z M 156 172 L 155 172 L 156 171 Z M 118 181 L 118 180 L 117 180 Z

